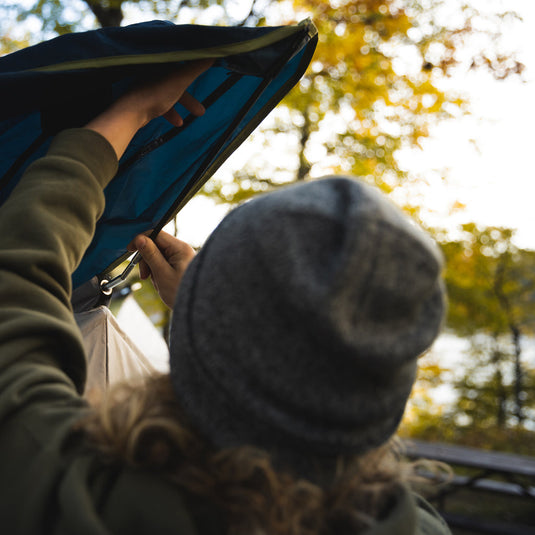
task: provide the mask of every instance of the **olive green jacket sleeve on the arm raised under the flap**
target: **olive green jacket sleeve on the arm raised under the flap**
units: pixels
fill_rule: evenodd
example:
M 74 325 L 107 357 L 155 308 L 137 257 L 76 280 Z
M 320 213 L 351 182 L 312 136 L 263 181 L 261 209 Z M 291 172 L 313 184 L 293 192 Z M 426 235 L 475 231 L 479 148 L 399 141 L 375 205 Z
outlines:
M 0 422 L 14 408 L 5 403 L 6 388 L 18 382 L 13 401 L 32 383 L 24 381 L 26 372 L 53 367 L 57 375 L 60 369 L 70 387 L 83 390 L 71 273 L 91 241 L 104 209 L 103 188 L 116 170 L 117 157 L 104 137 L 66 130 L 28 167 L 0 209 Z

